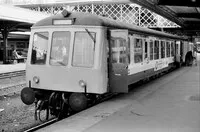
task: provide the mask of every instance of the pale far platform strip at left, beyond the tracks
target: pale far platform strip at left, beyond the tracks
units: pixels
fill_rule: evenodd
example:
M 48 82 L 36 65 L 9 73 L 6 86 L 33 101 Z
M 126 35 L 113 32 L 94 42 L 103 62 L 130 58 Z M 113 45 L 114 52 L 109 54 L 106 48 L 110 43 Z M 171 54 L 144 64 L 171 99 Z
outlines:
M 0 65 L 0 74 L 26 69 L 26 63 Z

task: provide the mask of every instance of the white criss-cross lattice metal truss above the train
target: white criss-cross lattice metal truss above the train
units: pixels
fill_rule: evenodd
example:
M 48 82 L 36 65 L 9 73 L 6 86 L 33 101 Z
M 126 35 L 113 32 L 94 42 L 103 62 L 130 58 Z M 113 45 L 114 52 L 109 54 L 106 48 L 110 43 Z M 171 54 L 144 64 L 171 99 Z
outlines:
M 32 10 L 57 14 L 63 9 L 74 12 L 88 12 L 97 15 L 104 15 L 129 24 L 135 24 L 149 28 L 177 28 L 180 27 L 174 22 L 133 3 L 97 3 L 97 4 L 77 4 L 77 5 L 40 5 L 29 7 Z

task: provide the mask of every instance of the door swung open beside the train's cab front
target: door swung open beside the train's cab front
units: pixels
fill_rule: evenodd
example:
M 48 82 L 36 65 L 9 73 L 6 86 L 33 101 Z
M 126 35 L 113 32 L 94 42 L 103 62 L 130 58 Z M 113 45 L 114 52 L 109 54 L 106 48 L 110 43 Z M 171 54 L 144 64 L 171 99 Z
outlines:
M 109 36 L 110 92 L 128 92 L 128 30 L 110 30 Z

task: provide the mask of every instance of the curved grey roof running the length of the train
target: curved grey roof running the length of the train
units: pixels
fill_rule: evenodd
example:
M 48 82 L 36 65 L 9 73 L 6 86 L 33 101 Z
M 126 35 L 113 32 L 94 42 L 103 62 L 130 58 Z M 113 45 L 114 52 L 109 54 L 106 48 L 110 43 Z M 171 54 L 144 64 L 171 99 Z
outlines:
M 183 37 L 156 31 L 153 29 L 148 29 L 144 27 L 139 27 L 133 24 L 127 24 L 123 22 L 119 22 L 110 18 L 98 16 L 91 13 L 82 13 L 82 12 L 68 12 L 64 10 L 62 13 L 47 17 L 43 20 L 38 21 L 33 25 L 33 27 L 37 26 L 51 26 L 53 25 L 53 20 L 63 20 L 63 19 L 74 19 L 73 25 L 86 25 L 86 26 L 105 26 L 109 28 L 117 28 L 117 29 L 128 29 L 131 31 L 151 34 L 158 37 L 167 37 L 171 39 L 184 39 Z

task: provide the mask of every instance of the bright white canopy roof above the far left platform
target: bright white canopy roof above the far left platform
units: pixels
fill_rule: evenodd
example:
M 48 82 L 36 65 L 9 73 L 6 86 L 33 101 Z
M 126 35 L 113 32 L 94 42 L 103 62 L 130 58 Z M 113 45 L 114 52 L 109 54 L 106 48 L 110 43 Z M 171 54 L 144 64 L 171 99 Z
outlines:
M 27 31 L 34 23 L 47 16 L 49 15 L 20 7 L 0 5 L 0 31 L 5 28 L 9 32 Z

